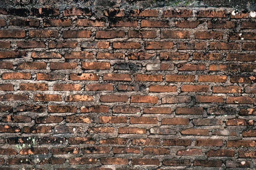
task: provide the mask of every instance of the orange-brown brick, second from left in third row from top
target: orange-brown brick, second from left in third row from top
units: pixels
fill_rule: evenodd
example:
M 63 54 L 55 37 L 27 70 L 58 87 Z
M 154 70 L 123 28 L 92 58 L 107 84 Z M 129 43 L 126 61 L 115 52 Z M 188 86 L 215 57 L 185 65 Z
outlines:
M 29 30 L 29 37 L 56 38 L 57 30 Z

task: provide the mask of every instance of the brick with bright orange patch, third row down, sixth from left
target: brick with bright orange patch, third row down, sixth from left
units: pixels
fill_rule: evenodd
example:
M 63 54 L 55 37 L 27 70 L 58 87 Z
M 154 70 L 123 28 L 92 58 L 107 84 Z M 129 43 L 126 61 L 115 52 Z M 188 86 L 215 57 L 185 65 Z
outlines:
M 189 31 L 161 31 L 161 38 L 189 38 Z

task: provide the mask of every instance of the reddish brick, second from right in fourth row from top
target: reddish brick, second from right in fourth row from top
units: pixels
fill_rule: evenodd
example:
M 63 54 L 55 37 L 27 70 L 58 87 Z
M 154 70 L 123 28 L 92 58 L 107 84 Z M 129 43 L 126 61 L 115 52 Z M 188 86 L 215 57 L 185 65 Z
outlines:
M 236 42 L 210 42 L 211 50 L 239 50 Z

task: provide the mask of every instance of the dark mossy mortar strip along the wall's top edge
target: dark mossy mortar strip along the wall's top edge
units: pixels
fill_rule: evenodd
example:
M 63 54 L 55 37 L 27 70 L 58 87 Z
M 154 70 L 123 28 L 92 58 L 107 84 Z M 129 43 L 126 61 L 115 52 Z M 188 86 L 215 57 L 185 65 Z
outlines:
M 232 8 L 255 10 L 256 0 L 0 0 L 2 8 Z

